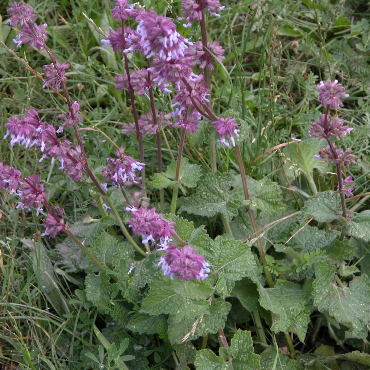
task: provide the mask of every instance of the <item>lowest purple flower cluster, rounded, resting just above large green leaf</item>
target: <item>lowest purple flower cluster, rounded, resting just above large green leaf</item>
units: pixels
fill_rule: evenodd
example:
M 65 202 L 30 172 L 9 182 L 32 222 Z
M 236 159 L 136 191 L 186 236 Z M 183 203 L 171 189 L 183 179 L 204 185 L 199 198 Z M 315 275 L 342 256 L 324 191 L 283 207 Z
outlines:
M 169 275 L 171 279 L 176 276 L 179 280 L 204 280 L 211 272 L 210 265 L 202 255 L 195 253 L 192 245 L 185 245 L 180 249 L 174 243 L 169 243 L 161 250 L 165 250 L 166 255 L 160 258 L 158 266 L 161 266 L 164 275 Z

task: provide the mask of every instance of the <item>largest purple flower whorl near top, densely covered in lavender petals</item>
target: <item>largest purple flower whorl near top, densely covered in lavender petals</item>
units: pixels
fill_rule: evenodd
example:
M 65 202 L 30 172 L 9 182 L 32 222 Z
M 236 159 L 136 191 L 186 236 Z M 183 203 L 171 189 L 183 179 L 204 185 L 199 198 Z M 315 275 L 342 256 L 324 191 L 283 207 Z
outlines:
M 159 16 L 152 9 L 141 15 L 136 31 L 130 36 L 132 46 L 128 50 L 141 49 L 147 58 L 153 55 L 168 60 L 184 57 L 188 47 L 186 44 L 192 44 L 176 31 L 172 19 Z

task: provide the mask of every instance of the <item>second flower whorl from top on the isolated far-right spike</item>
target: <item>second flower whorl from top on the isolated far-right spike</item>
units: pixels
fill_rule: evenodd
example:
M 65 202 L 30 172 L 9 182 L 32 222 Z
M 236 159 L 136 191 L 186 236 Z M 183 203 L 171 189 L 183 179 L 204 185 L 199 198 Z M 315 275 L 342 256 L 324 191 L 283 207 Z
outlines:
M 308 133 L 309 137 L 317 137 L 321 139 L 329 139 L 331 136 L 336 136 L 343 140 L 343 135 L 353 128 L 343 126 L 344 120 L 334 117 L 330 119 L 325 114 L 320 114 L 316 122 L 311 122 L 311 129 Z

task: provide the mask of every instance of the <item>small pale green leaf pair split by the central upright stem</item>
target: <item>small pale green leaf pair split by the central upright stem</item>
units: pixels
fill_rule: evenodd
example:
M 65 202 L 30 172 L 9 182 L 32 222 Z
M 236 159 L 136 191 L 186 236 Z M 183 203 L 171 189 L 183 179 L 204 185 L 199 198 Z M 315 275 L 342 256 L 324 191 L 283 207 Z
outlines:
M 154 174 L 153 181 L 149 184 L 155 188 L 167 188 L 170 185 L 174 185 L 177 183 L 175 181 L 176 177 L 176 166 L 177 161 L 172 161 L 171 164 L 167 167 L 166 172 L 162 172 L 162 174 Z M 185 195 L 185 190 L 183 186 L 187 188 L 195 188 L 196 183 L 201 178 L 202 168 L 197 164 L 189 164 L 189 159 L 184 157 L 181 159 L 180 163 L 180 171 L 179 171 L 179 188 Z

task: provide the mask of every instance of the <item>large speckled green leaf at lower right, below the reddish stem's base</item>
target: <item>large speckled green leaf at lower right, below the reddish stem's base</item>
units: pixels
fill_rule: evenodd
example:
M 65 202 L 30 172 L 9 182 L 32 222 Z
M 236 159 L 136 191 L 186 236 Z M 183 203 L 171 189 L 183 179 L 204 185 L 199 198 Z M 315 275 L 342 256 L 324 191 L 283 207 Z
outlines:
M 275 332 L 294 332 L 305 341 L 311 305 L 305 290 L 293 282 L 278 280 L 275 288 L 260 287 L 260 305 L 272 312 Z

